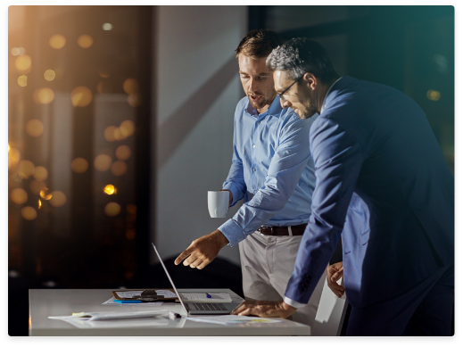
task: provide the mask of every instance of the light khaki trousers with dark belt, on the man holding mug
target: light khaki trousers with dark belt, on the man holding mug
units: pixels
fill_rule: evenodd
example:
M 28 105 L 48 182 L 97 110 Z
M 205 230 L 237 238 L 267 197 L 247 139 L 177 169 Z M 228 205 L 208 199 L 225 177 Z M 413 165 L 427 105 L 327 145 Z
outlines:
M 246 300 L 279 301 L 294 271 L 302 236 L 267 236 L 256 232 L 239 244 Z M 304 308 L 292 320 L 313 326 L 327 276 L 324 275 Z

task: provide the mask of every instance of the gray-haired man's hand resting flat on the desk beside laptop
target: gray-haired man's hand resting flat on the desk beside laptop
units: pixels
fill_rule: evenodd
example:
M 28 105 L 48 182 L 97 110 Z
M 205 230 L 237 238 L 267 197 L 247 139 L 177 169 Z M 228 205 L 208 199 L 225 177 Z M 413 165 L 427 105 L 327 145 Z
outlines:
M 297 309 L 284 301 L 253 302 L 246 301 L 239 305 L 231 314 L 237 316 L 258 316 L 261 318 L 288 318 Z

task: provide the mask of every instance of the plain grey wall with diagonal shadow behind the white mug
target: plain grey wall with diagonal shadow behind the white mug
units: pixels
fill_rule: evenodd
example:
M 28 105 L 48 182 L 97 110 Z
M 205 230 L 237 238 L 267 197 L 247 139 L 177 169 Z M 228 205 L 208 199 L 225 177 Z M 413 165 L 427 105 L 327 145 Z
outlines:
M 158 11 L 153 229 L 161 255 L 169 257 L 226 221 L 210 218 L 207 192 L 221 189 L 232 161 L 234 113 L 244 96 L 234 50 L 248 16 L 244 5 L 160 6 Z M 237 247 L 226 247 L 220 256 L 239 263 Z

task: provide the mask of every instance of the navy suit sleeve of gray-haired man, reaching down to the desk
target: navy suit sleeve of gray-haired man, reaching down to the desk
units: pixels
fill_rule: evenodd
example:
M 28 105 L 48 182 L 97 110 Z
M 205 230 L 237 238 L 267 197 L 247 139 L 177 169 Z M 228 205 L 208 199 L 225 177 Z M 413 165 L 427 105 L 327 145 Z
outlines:
M 326 117 L 313 124 L 310 145 L 317 177 L 312 216 L 285 293 L 299 303 L 309 302 L 335 253 L 363 164 L 356 138 Z

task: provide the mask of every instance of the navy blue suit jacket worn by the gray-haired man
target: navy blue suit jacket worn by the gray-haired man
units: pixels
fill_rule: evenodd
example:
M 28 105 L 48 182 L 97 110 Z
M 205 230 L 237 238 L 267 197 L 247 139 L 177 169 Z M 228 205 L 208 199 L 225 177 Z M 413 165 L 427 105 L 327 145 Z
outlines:
M 309 302 L 341 235 L 354 307 L 392 299 L 455 262 L 455 179 L 409 96 L 344 77 L 310 143 L 317 186 L 286 297 Z

